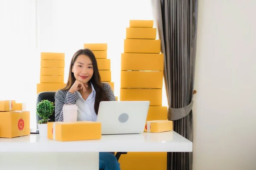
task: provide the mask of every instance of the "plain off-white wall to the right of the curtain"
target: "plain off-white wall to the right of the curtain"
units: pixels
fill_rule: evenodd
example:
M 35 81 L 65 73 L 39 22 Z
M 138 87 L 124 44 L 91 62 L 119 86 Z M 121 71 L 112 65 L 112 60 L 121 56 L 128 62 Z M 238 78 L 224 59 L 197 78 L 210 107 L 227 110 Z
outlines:
M 193 170 L 256 170 L 255 17 L 255 0 L 199 0 Z

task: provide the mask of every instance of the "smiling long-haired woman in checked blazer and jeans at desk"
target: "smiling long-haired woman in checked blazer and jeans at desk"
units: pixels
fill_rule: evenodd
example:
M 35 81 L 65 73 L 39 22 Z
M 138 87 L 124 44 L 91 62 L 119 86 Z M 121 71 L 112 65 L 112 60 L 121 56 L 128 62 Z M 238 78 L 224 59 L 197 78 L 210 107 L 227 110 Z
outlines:
M 77 121 L 96 122 L 99 103 L 116 101 L 108 83 L 102 83 L 96 58 L 89 49 L 76 51 L 70 62 L 67 86 L 55 94 L 55 121 L 64 121 L 64 105 L 76 104 Z M 114 153 L 99 153 L 99 168 L 120 170 Z

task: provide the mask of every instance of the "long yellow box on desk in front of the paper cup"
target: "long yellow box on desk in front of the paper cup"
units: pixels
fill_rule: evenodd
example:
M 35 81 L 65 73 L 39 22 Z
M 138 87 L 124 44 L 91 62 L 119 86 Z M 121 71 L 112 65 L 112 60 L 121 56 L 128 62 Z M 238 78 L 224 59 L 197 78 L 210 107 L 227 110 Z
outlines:
M 91 121 L 48 122 L 47 137 L 57 141 L 101 139 L 101 123 Z

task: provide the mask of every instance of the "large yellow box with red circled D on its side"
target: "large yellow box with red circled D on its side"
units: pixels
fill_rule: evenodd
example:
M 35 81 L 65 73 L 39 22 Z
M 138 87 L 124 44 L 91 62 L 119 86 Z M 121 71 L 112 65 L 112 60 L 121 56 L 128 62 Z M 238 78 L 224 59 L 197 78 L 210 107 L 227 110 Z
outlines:
M 30 134 L 29 111 L 0 112 L 0 137 L 14 138 Z

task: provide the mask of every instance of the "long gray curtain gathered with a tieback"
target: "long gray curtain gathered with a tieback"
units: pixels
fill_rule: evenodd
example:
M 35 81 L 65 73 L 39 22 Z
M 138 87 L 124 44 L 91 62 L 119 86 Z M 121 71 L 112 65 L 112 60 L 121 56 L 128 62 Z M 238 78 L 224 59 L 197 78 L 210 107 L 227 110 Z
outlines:
M 174 131 L 193 142 L 193 87 L 198 0 L 153 0 L 164 54 L 168 119 Z M 192 170 L 192 153 L 167 153 L 168 170 Z

